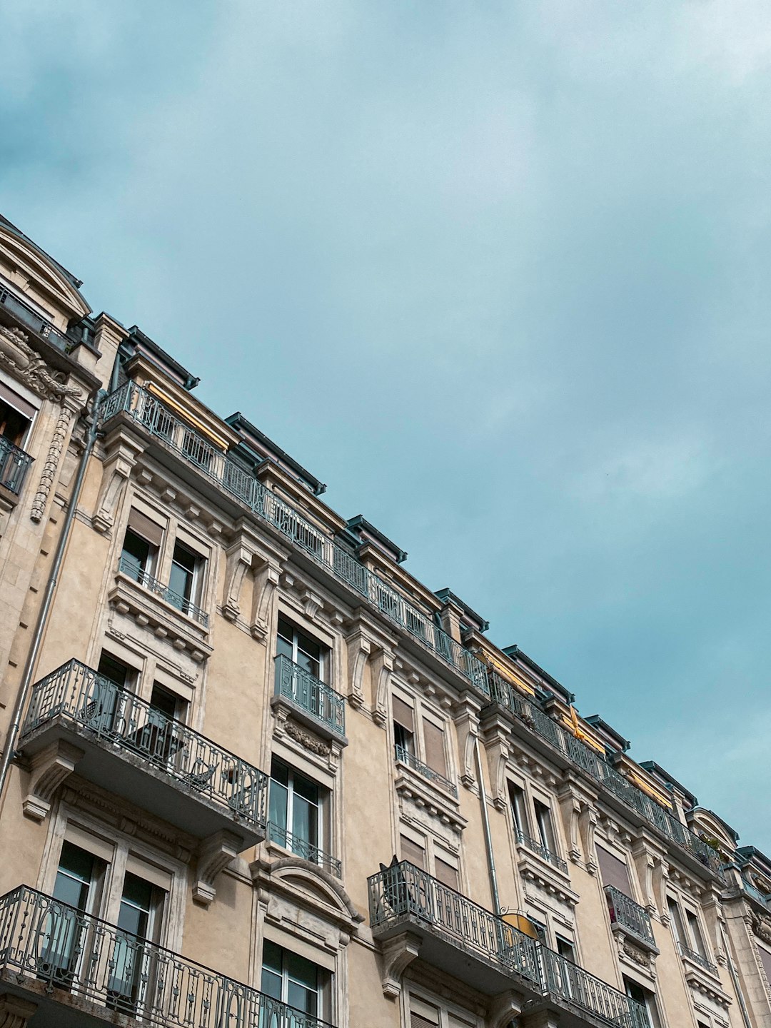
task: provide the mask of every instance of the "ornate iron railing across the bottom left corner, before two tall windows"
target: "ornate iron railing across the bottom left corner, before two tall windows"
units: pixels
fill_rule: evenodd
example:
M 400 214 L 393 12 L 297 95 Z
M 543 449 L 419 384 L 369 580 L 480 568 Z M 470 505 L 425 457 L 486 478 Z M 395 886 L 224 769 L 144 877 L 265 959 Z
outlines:
M 22 885 L 0 897 L 0 969 L 43 983 L 53 999 L 91 1002 L 159 1028 L 332 1028 L 280 1002 Z M 121 1024 L 123 1021 L 121 1020 Z

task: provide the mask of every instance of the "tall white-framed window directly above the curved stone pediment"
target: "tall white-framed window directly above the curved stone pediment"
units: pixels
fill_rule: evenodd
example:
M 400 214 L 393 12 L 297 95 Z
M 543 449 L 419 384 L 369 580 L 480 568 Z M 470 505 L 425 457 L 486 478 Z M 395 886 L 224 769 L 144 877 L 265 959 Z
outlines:
M 270 765 L 270 840 L 322 864 L 327 837 L 327 791 L 283 761 Z

